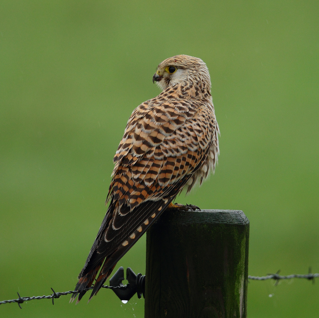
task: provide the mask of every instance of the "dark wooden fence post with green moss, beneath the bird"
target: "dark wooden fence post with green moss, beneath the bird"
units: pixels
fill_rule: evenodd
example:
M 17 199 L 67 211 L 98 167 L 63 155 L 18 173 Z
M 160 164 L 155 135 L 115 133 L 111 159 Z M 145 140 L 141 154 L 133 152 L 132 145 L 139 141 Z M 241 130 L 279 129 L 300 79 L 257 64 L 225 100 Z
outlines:
M 147 231 L 145 318 L 247 317 L 242 211 L 164 212 Z

